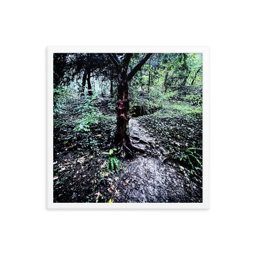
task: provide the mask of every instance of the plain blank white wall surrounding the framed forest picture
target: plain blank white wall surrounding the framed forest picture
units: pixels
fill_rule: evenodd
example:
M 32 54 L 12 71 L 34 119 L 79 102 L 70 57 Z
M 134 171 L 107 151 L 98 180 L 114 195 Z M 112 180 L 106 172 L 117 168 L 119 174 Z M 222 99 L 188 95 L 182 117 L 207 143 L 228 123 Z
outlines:
M 254 11 L 250 0 L 3 2 L 1 255 L 253 255 Z M 46 209 L 49 45 L 209 46 L 209 210 Z

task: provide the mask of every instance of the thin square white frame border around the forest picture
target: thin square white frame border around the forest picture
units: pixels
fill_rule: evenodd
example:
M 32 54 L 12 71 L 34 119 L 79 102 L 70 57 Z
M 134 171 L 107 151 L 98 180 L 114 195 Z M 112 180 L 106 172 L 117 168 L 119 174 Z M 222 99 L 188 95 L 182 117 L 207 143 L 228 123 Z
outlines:
M 53 203 L 53 53 L 203 53 L 203 203 Z M 52 46 L 47 48 L 47 208 L 48 209 L 208 209 L 209 49 L 206 46 Z

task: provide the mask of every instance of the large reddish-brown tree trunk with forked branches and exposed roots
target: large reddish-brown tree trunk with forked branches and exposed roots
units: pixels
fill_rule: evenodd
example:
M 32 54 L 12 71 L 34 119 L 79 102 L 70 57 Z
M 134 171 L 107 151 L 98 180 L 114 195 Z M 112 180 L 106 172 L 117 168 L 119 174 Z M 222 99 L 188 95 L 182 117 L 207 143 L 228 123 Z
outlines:
M 110 53 L 109 56 L 116 67 L 116 73 L 118 74 L 118 86 L 117 86 L 117 130 L 115 135 L 115 145 L 120 146 L 118 153 L 124 149 L 128 154 L 132 154 L 132 149 L 142 150 L 139 147 L 133 145 L 131 137 L 127 134 L 127 126 L 129 122 L 130 114 L 130 94 L 129 86 L 130 81 L 134 77 L 141 67 L 146 63 L 152 53 L 146 54 L 146 56 L 137 63 L 137 65 L 128 73 L 129 63 L 133 57 L 132 53 L 126 53 L 119 58 L 118 55 Z

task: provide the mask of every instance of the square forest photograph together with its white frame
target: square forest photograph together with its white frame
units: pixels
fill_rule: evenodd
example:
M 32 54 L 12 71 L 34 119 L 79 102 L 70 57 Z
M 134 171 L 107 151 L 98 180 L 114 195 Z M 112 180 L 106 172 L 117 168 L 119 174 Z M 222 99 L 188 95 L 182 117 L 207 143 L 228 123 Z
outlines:
M 48 208 L 209 207 L 207 47 L 49 47 Z

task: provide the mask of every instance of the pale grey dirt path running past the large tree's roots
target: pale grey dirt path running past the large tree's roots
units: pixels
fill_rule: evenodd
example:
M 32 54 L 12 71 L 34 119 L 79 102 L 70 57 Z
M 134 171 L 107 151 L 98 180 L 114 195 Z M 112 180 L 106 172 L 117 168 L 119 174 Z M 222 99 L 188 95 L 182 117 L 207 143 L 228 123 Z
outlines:
M 122 162 L 122 171 L 115 181 L 118 193 L 114 202 L 202 202 L 201 188 L 186 180 L 174 163 L 163 163 L 164 155 L 156 139 L 139 126 L 138 121 L 129 122 L 130 133 L 137 139 L 137 146 L 150 149 L 152 154 L 136 154 Z

